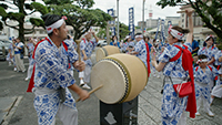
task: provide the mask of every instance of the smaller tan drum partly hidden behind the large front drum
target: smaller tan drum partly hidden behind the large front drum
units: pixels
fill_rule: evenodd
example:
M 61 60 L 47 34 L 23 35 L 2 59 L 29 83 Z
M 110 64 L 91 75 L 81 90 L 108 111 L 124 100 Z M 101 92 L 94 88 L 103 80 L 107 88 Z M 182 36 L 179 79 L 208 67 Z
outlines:
M 97 50 L 97 62 L 108 55 L 115 54 L 115 53 L 120 53 L 120 49 L 118 46 L 113 46 L 113 45 L 102 46 Z

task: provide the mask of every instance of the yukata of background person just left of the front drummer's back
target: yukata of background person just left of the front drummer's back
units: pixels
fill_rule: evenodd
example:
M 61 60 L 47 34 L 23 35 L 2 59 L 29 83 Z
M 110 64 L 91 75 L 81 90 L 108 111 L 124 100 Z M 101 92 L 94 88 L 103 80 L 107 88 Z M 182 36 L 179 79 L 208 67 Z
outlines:
M 28 67 L 28 72 L 27 72 L 27 77 L 28 79 L 31 79 L 31 74 L 32 74 L 32 70 L 33 70 L 33 64 L 34 64 L 34 61 L 32 59 L 32 52 L 34 51 L 34 45 L 33 43 L 29 42 L 27 44 L 28 46 L 28 50 L 29 50 L 29 67 Z

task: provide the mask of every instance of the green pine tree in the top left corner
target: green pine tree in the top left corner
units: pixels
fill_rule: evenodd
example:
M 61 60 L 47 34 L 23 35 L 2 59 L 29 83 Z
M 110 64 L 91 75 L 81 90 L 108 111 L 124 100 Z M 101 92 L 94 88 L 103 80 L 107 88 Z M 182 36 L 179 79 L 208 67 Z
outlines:
M 3 1 L 0 4 L 0 17 L 1 17 L 1 27 L 4 23 L 7 27 L 16 29 L 19 31 L 19 38 L 24 41 L 24 34 L 32 33 L 34 31 L 34 27 L 43 27 L 43 21 L 37 18 L 30 18 L 30 22 L 33 24 L 31 29 L 24 29 L 24 18 L 34 12 L 40 12 L 42 14 L 48 13 L 47 8 L 39 2 L 28 3 L 26 0 L 1 0 Z M 32 0 L 34 1 L 34 0 Z M 16 6 L 16 8 L 14 8 Z M 30 12 L 28 12 L 30 11 Z M 17 21 L 18 24 L 11 25 L 7 23 L 7 20 Z

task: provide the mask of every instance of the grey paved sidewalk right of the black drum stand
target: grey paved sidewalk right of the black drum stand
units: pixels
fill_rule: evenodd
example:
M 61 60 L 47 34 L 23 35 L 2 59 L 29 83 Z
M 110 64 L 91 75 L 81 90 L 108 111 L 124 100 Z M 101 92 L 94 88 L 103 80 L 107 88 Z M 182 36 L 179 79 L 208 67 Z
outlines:
M 147 88 L 144 88 L 139 96 L 139 125 L 161 125 L 161 100 L 162 81 L 154 77 L 152 74 L 149 77 Z M 215 98 L 211 105 L 211 111 L 214 117 L 210 117 L 204 112 L 203 107 L 200 108 L 201 116 L 195 118 L 188 117 L 186 125 L 221 125 L 222 124 L 222 100 Z M 188 114 L 189 116 L 189 114 Z

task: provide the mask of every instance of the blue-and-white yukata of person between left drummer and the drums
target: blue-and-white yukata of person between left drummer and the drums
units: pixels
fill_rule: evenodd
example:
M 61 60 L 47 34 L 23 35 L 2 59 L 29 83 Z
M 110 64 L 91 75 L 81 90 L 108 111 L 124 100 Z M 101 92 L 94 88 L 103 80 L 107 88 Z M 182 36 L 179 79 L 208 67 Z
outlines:
M 91 73 L 91 69 L 92 69 L 92 62 L 91 62 L 91 55 L 92 55 L 92 51 L 95 49 L 97 46 L 97 42 L 95 40 L 93 41 L 87 41 L 87 39 L 83 39 L 80 43 L 80 50 L 84 50 L 84 53 L 87 54 L 87 60 L 84 61 L 83 60 L 83 54 L 81 52 L 81 59 L 82 61 L 84 61 L 85 63 L 85 69 L 84 71 L 80 72 L 79 73 L 79 77 L 83 77 L 83 81 L 85 83 L 89 83 L 90 82 L 90 73 Z

